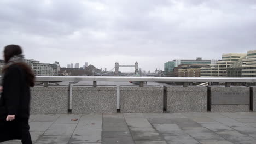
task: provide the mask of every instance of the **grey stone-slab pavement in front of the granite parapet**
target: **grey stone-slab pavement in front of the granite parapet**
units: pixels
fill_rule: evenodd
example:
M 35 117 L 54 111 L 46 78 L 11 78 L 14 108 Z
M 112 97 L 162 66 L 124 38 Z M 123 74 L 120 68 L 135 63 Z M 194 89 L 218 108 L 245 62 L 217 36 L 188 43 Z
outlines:
M 256 143 L 256 112 L 31 115 L 30 125 L 37 144 Z

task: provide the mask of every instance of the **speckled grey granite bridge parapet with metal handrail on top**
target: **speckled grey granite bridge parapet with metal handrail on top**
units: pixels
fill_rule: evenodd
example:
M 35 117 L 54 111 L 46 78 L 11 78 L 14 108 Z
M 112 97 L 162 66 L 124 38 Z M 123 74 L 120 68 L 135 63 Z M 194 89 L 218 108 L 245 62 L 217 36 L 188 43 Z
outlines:
M 31 113 L 231 112 L 256 111 L 256 83 L 248 78 L 204 77 L 71 77 L 38 76 L 31 88 Z M 50 86 L 53 81 L 91 81 L 92 85 Z M 97 81 L 133 81 L 138 86 L 101 86 Z M 181 82 L 181 86 L 148 86 L 144 82 Z M 223 82 L 225 86 L 190 86 L 190 82 Z M 119 109 L 117 110 L 117 99 Z

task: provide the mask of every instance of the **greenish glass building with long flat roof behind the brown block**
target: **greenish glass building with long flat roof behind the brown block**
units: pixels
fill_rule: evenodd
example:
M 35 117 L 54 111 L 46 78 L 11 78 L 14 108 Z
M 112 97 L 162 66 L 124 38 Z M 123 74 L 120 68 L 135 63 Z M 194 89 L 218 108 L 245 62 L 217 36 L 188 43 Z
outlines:
M 201 57 L 197 57 L 196 60 L 176 59 L 165 63 L 165 76 L 174 76 L 174 67 L 182 64 L 211 64 L 211 60 L 202 60 Z

